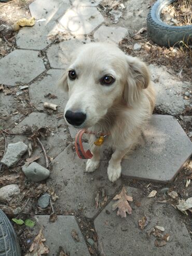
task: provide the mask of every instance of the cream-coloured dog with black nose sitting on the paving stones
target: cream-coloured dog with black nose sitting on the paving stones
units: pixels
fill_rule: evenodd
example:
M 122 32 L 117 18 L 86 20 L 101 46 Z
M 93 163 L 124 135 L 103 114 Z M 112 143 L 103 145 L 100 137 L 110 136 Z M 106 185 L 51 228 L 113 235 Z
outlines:
M 68 91 L 64 118 L 86 129 L 92 158 L 86 172 L 100 164 L 98 136 L 114 149 L 108 162 L 110 181 L 121 175 L 121 160 L 138 144 L 155 106 L 155 90 L 147 66 L 122 52 L 116 45 L 89 43 L 72 53 L 71 65 L 59 80 Z

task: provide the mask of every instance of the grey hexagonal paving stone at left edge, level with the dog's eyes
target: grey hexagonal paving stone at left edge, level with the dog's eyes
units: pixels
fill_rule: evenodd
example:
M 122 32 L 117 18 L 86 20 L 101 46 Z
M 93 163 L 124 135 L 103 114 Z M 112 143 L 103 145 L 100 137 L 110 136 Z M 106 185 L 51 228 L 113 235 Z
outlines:
M 8 86 L 29 83 L 43 71 L 45 66 L 38 52 L 15 50 L 0 60 L 0 83 Z

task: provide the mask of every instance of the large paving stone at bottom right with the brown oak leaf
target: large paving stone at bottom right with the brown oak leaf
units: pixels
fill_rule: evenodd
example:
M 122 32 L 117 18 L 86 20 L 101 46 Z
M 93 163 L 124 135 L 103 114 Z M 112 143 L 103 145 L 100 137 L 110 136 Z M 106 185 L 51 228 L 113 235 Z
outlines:
M 191 239 L 179 213 L 171 205 L 160 204 L 153 198 L 139 199 L 141 206 L 138 207 L 134 202 L 141 197 L 139 190 L 128 187 L 127 191 L 133 196 L 133 202 L 130 203 L 133 208 L 131 215 L 126 218 L 116 216 L 116 211 L 112 211 L 112 204 L 115 201 L 111 201 L 94 220 L 99 247 L 103 248 L 105 255 L 190 256 Z M 138 221 L 144 215 L 149 218 L 149 224 L 141 230 Z M 163 234 L 170 234 L 166 246 L 156 247 L 156 237 L 146 235 L 146 232 L 152 231 L 156 225 L 164 227 Z

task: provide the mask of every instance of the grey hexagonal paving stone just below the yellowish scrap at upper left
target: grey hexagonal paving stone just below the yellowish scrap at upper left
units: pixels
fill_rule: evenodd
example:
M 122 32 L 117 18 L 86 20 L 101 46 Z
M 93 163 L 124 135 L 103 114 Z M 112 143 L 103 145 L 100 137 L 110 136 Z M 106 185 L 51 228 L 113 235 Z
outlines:
M 37 22 L 33 27 L 21 28 L 16 35 L 18 48 L 42 50 L 51 43 L 49 35 L 58 29 L 55 21 Z

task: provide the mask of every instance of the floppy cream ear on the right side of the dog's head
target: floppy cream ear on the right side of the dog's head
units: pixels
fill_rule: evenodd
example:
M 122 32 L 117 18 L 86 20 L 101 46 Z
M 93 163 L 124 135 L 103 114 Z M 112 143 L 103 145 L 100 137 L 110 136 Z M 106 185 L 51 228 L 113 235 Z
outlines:
M 147 88 L 150 75 L 147 66 L 140 59 L 126 56 L 127 81 L 124 88 L 124 100 L 132 106 L 140 99 L 142 89 Z

